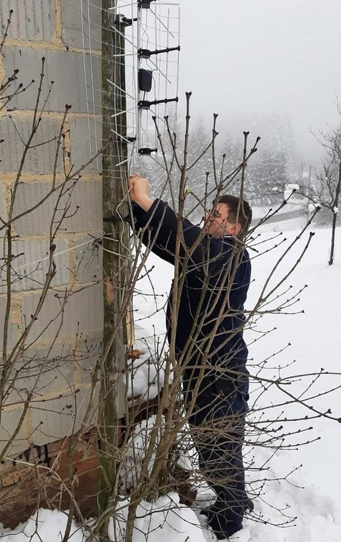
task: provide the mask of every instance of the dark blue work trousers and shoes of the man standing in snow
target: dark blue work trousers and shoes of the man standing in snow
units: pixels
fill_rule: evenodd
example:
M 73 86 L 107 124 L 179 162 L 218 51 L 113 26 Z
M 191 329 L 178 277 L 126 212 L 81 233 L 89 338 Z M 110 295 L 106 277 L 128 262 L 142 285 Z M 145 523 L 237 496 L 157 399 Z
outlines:
M 236 387 L 222 390 L 213 375 L 204 378 L 200 388 L 189 424 L 200 470 L 217 493 L 208 522 L 219 538 L 226 538 L 242 528 L 248 500 L 242 462 L 247 397 Z M 191 391 L 185 393 L 187 401 L 191 396 Z

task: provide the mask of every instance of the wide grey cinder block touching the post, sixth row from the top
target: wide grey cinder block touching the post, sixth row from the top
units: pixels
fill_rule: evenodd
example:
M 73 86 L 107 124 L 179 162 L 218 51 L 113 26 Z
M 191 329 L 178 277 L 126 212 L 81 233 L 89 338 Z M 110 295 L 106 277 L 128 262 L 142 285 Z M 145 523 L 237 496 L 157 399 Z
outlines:
M 61 319 L 63 325 L 58 337 L 75 336 L 76 333 L 94 334 L 96 331 L 102 331 L 103 292 L 101 284 L 89 286 L 70 295 L 63 314 L 61 307 L 64 293 L 58 292 L 57 295 L 59 299 L 56 298 L 55 292 L 48 292 L 40 314 L 31 328 L 29 340 L 38 337 L 40 340 L 54 339 L 58 333 Z M 30 322 L 31 314 L 35 312 L 38 299 L 38 293 L 23 296 L 23 326 L 25 326 L 25 322 L 27 324 Z

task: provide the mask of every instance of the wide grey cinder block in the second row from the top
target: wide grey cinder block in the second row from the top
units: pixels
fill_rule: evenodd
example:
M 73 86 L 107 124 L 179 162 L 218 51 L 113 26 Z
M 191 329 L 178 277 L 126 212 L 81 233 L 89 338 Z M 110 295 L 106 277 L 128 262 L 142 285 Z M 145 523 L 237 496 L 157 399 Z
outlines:
M 45 69 L 42 102 L 47 95 L 50 82 L 55 81 L 46 110 L 63 111 L 65 104 L 70 104 L 72 111 L 86 113 L 88 108 L 93 112 L 95 103 L 95 112 L 100 113 L 101 60 L 99 56 L 91 55 L 90 59 L 87 53 L 28 47 L 4 47 L 5 74 L 10 75 L 14 69 L 19 69 L 18 81 L 24 86 L 28 85 L 32 78 L 36 81 L 27 91 L 15 96 L 10 106 L 16 109 L 34 109 L 43 56 Z

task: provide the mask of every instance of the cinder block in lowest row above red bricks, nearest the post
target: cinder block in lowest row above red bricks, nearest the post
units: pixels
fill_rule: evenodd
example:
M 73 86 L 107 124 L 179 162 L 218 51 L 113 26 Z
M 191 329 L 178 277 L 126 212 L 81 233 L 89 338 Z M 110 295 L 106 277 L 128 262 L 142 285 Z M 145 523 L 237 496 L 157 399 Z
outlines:
M 75 395 L 31 406 L 32 435 L 30 442 L 42 446 L 83 428 L 83 418 L 89 406 L 90 390 L 80 388 Z M 91 406 L 94 409 L 94 404 Z

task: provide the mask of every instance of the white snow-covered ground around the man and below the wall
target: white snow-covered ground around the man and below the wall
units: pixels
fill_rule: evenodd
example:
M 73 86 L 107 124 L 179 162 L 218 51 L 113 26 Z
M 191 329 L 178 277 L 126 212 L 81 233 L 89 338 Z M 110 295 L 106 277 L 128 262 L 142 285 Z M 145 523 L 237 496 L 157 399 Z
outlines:
M 327 264 L 330 231 L 327 229 L 316 229 L 316 235 L 312 238 L 311 244 L 302 261 L 298 264 L 294 273 L 286 283 L 286 287 L 292 285 L 290 292 L 298 291 L 305 284 L 308 286 L 299 295 L 297 304 L 283 312 L 297 312 L 304 309 L 304 313 L 293 315 L 267 314 L 259 321 L 259 330 L 277 329 L 267 333 L 264 338 L 251 344 L 254 340 L 254 333 L 247 331 L 245 337 L 250 343 L 250 372 L 254 372 L 262 360 L 272 356 L 273 352 L 280 351 L 287 343 L 291 346 L 280 352 L 277 356 L 271 357 L 264 369 L 263 376 L 271 378 L 279 374 L 278 366 L 285 367 L 281 376 L 304 375 L 305 373 L 318 372 L 321 367 L 325 371 L 340 373 L 341 362 L 341 335 L 339 332 L 340 317 L 339 307 L 341 306 L 341 229 L 337 230 L 336 238 L 336 259 L 335 264 L 329 267 Z M 275 234 L 270 231 L 262 234 L 257 241 L 265 240 Z M 246 309 L 251 309 L 254 301 L 258 298 L 261 287 L 274 262 L 278 260 L 288 243 L 292 242 L 297 232 L 287 233 L 287 241 L 278 248 L 268 251 L 262 256 L 257 256 L 252 261 L 253 279 L 248 295 Z M 295 246 L 284 262 L 278 267 L 274 277 L 280 278 L 297 261 L 301 250 L 307 240 L 307 232 L 297 246 Z M 285 235 L 283 235 L 285 237 Z M 282 237 L 272 242 L 278 243 Z M 267 243 L 259 244 L 258 249 L 268 248 Z M 252 251 L 252 255 L 255 253 Z M 155 265 L 149 278 L 139 281 L 140 291 L 145 294 L 152 293 L 149 279 L 152 280 L 155 293 L 158 294 L 158 308 L 162 308 L 167 300 L 173 268 L 169 264 L 150 256 L 148 268 Z M 274 280 L 272 283 L 274 283 Z M 286 289 L 285 286 L 281 289 Z M 163 295 L 163 297 L 161 297 Z M 149 295 L 138 295 L 134 301 L 135 320 L 137 323 L 137 335 L 139 338 L 148 337 L 149 343 L 154 343 L 154 333 L 162 338 L 165 334 L 165 318 L 163 311 L 155 313 L 153 298 Z M 152 314 L 154 313 L 154 314 Z M 152 314 L 149 318 L 148 315 Z M 142 327 L 145 331 L 143 331 Z M 142 341 L 143 342 L 143 341 Z M 293 360 L 295 363 L 292 364 Z M 304 391 L 308 379 L 301 377 L 297 382 L 292 382 L 290 391 L 297 393 Z M 325 389 L 341 384 L 341 378 L 337 375 L 325 375 L 320 377 L 311 388 L 310 395 L 317 395 Z M 255 388 L 255 385 L 251 386 Z M 276 404 L 283 399 L 275 386 L 261 396 L 257 405 L 261 407 Z M 309 393 L 302 397 L 309 397 Z M 251 393 L 250 404 L 256 398 L 256 392 Z M 308 403 L 323 411 L 331 409 L 332 416 L 341 416 L 340 391 L 336 390 L 330 395 L 311 399 Z M 287 417 L 297 418 L 302 414 L 309 414 L 303 410 L 303 406 L 294 405 L 284 407 Z M 283 409 L 282 409 L 283 410 Z M 252 519 L 244 520 L 244 528 L 237 533 L 233 540 L 239 542 L 340 542 L 341 540 L 341 424 L 326 418 L 317 418 L 307 422 L 284 422 L 287 430 L 313 426 L 310 431 L 301 435 L 294 435 L 287 442 L 296 444 L 321 437 L 320 440 L 304 446 L 293 446 L 291 450 L 278 451 L 267 463 L 266 475 L 263 473 L 248 473 L 247 480 L 252 482 L 253 476 L 258 478 L 274 479 L 266 482 L 260 497 L 255 501 L 255 514 L 262 515 L 264 522 Z M 255 448 L 252 452 L 255 457 L 255 464 L 261 465 L 268 460 L 273 450 Z M 279 478 L 286 476 L 291 470 L 296 470 L 288 481 Z M 149 542 L 167 540 L 167 542 L 203 542 L 213 541 L 215 537 L 212 532 L 200 527 L 204 518 L 198 518 L 189 508 L 177 506 L 178 496 L 169 494 L 153 505 L 153 513 L 150 503 L 143 502 L 139 508 L 139 519 L 134 532 L 134 542 L 146 540 L 147 532 Z M 279 512 L 279 510 L 282 511 Z M 168 512 L 167 512 L 168 511 Z M 283 515 L 283 514 L 286 514 Z M 291 520 L 296 517 L 297 519 Z M 40 511 L 41 520 L 39 533 L 32 542 L 57 542 L 62 537 L 63 528 L 66 525 L 66 517 L 62 512 Z M 281 526 L 288 520 L 290 526 Z M 124 511 L 121 520 L 124 523 Z M 162 528 L 161 528 L 161 526 Z M 109 536 L 113 538 L 114 523 L 110 523 Z M 19 526 L 15 531 L 5 530 L 1 540 L 4 542 L 26 542 L 34 532 L 35 522 L 29 521 L 26 526 Z M 83 534 L 73 525 L 75 534 L 70 538 L 73 542 L 81 542 Z M 24 534 L 25 531 L 25 534 Z M 20 534 L 21 533 L 21 534 Z M 232 540 L 232 539 L 231 539 Z

